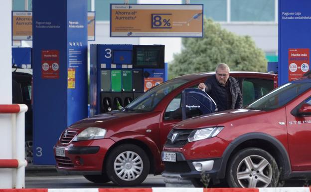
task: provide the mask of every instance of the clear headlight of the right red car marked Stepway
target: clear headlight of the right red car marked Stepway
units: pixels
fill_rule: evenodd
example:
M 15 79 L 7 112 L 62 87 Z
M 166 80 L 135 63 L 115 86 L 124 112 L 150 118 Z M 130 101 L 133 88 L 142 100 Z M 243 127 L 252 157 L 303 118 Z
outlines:
M 188 142 L 198 141 L 202 139 L 215 137 L 223 130 L 224 127 L 209 127 L 204 129 L 198 129 L 191 132 L 188 137 Z

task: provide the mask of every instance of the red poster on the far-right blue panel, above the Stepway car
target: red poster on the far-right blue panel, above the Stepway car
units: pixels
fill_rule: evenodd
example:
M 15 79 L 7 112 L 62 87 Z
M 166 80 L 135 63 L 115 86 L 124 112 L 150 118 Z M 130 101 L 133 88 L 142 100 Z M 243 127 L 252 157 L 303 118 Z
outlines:
M 302 77 L 309 71 L 310 49 L 289 49 L 289 81 Z

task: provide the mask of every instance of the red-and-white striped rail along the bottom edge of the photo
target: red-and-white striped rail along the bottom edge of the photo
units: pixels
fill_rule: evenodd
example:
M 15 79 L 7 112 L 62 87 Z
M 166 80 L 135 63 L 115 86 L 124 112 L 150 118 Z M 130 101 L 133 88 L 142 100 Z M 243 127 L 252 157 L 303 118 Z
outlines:
M 311 192 L 311 188 L 0 189 L 0 192 Z

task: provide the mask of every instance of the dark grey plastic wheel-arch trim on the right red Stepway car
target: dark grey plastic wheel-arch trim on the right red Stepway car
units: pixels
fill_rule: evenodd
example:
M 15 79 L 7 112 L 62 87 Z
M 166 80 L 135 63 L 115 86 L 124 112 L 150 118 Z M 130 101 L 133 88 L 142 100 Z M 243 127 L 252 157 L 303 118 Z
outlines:
M 224 151 L 223 155 L 222 155 L 222 162 L 221 162 L 221 166 L 220 166 L 220 170 L 218 173 L 218 178 L 219 179 L 223 179 L 225 178 L 225 173 L 226 173 L 226 167 L 227 167 L 227 163 L 228 160 L 231 156 L 231 153 L 243 142 L 248 141 L 248 140 L 252 140 L 252 139 L 261 139 L 261 140 L 265 140 L 269 143 L 271 143 L 271 145 L 274 145 L 276 147 L 276 149 L 280 152 L 282 158 L 283 158 L 283 163 L 284 163 L 284 177 L 288 177 L 289 174 L 291 173 L 291 163 L 290 163 L 290 158 L 289 155 L 287 153 L 287 150 L 285 149 L 285 147 L 283 146 L 283 144 L 277 140 L 275 137 L 265 134 L 265 133 L 260 133 L 260 132 L 254 132 L 254 133 L 247 133 L 244 135 L 241 135 L 239 137 L 237 137 L 235 140 L 233 140 L 228 147 L 226 148 L 226 150 Z

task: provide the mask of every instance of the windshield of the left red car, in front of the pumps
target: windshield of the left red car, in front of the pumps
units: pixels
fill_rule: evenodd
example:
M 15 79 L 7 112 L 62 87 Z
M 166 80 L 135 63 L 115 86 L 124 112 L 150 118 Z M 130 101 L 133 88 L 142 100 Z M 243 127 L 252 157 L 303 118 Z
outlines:
M 168 93 L 187 82 L 189 80 L 172 79 L 161 83 L 127 105 L 124 111 L 152 111 Z

